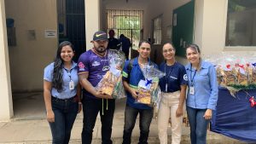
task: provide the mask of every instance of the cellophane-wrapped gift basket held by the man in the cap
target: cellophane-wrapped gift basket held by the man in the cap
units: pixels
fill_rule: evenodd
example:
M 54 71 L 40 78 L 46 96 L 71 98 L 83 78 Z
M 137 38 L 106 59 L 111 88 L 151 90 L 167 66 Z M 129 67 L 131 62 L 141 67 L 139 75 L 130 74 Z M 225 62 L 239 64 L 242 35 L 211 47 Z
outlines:
M 108 61 L 110 69 L 97 84 L 96 90 L 102 91 L 105 95 L 111 95 L 114 99 L 123 98 L 125 89 L 119 69 L 123 69 L 125 65 L 125 54 L 120 50 L 109 50 Z

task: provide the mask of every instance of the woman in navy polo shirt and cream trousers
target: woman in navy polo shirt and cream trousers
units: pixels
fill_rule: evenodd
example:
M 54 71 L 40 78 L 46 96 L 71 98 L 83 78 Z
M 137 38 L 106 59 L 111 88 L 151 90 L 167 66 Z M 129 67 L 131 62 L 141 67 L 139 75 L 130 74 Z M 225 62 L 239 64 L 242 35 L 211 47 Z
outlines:
M 185 67 L 175 60 L 176 49 L 171 43 L 163 46 L 165 61 L 160 64 L 160 71 L 166 76 L 160 78 L 162 92 L 158 112 L 158 135 L 160 144 L 167 144 L 169 118 L 172 124 L 172 144 L 179 144 L 182 135 L 183 103 L 186 95 L 188 78 Z

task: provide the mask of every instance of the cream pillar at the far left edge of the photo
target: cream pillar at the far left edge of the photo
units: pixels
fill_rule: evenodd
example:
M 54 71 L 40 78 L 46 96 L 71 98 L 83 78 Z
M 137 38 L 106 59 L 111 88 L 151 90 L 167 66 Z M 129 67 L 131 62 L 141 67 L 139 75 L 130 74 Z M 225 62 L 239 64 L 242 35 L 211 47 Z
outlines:
M 9 49 L 5 23 L 4 1 L 0 1 L 0 121 L 13 117 L 13 101 L 9 74 Z

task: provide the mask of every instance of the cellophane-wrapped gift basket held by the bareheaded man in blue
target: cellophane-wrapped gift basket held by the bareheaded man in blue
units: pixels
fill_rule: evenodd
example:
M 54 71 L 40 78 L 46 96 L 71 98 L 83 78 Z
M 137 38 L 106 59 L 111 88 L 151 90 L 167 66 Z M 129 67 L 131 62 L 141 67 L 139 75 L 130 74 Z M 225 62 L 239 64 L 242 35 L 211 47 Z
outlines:
M 159 78 L 164 77 L 165 73 L 150 65 L 143 65 L 142 71 L 145 80 L 140 80 L 138 84 L 136 101 L 152 106 L 157 105 L 160 102 Z

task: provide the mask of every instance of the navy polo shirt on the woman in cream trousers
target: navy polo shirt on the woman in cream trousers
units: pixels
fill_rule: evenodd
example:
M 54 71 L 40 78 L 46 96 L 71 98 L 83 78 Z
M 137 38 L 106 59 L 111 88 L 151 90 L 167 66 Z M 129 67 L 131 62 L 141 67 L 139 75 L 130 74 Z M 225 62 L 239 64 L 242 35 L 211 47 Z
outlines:
M 175 62 L 172 66 L 167 66 L 166 62 L 160 64 L 160 71 L 165 72 L 166 76 L 160 78 L 160 89 L 163 92 L 173 93 L 180 90 L 181 85 L 188 84 L 188 77 L 185 66 Z M 166 91 L 167 84 L 167 91 Z

